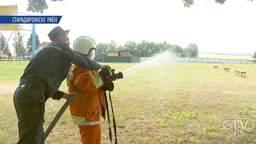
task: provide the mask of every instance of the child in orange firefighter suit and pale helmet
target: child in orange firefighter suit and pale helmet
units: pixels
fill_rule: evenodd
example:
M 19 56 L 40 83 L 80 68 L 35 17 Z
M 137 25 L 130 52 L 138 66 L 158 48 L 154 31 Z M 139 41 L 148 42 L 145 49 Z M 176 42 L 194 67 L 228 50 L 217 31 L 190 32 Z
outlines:
M 90 59 L 94 57 L 96 43 L 87 36 L 77 38 L 73 50 Z M 83 144 L 100 144 L 100 123 L 105 119 L 105 98 L 101 90 L 103 80 L 98 70 L 88 70 L 74 65 L 69 77 L 69 92 L 84 93 L 69 105 L 72 122 L 78 124 Z

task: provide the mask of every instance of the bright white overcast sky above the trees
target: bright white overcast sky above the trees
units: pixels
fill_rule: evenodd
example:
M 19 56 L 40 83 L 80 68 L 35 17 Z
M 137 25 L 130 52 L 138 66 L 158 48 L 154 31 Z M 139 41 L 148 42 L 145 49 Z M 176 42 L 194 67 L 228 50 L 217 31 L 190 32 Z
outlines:
M 70 47 L 79 36 L 96 43 L 117 45 L 142 40 L 166 41 L 185 48 L 190 43 L 199 52 L 253 53 L 256 51 L 256 0 L 194 0 L 184 8 L 182 0 L 46 0 L 44 13 L 27 12 L 28 0 L 0 0 L 0 5 L 18 5 L 18 12 L 40 16 L 62 16 L 59 24 L 36 24 L 40 42 L 50 42 L 47 34 L 56 26 L 70 29 Z M 18 15 L 23 15 L 18 13 Z M 32 30 L 32 24 L 22 24 Z M 8 40 L 12 31 L 1 31 Z M 25 47 L 31 31 L 23 31 Z M 8 42 L 11 52 L 12 38 Z

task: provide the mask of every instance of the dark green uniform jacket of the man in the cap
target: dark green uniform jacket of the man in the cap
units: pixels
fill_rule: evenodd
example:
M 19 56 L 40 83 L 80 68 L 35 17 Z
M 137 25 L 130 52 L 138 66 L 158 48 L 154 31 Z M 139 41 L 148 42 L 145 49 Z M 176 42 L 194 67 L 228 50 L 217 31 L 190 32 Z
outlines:
M 84 69 L 100 69 L 100 64 L 76 54 L 68 44 L 53 42 L 37 52 L 20 77 L 21 84 L 35 84 L 46 92 L 45 99 L 60 100 L 61 82 L 67 77 L 71 63 Z

